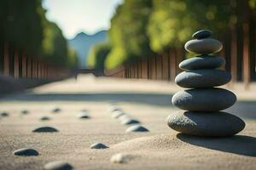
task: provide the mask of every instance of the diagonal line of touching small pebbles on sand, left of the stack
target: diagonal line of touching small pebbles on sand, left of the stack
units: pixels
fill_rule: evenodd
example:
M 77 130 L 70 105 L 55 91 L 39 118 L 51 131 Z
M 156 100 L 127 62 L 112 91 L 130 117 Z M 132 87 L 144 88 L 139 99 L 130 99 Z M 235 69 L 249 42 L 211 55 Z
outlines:
M 140 125 L 140 121 L 137 119 L 132 118 L 130 115 L 125 113 L 125 111 L 122 111 L 119 107 L 116 105 L 110 105 L 109 106 L 109 112 L 112 114 L 112 117 L 115 119 L 118 119 L 122 125 L 128 125 L 126 129 L 126 133 L 134 133 L 134 132 L 148 132 L 148 128 L 143 127 Z

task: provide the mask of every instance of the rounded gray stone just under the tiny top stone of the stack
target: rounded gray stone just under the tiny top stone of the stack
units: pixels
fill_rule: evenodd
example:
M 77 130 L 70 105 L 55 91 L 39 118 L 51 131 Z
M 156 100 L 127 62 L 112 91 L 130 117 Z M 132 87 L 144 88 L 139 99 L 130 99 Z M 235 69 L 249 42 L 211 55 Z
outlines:
M 185 43 L 185 49 L 193 54 L 218 53 L 222 48 L 222 43 L 213 38 L 190 40 Z

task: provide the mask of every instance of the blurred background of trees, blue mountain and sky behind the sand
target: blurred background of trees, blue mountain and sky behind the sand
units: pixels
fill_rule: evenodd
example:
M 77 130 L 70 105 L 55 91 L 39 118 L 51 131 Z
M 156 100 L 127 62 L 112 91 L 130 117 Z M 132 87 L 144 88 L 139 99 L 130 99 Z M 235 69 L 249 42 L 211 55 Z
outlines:
M 223 42 L 232 83 L 249 88 L 255 14 L 256 0 L 1 0 L 1 91 L 80 73 L 173 81 L 201 29 Z

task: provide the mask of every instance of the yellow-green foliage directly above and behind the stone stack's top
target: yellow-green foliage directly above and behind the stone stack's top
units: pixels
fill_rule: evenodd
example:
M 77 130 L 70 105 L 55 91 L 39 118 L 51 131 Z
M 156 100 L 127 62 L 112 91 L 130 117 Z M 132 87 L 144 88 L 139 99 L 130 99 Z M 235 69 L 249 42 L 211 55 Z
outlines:
M 154 52 L 181 47 L 201 29 L 224 30 L 232 19 L 228 1 L 154 0 L 148 24 L 150 47 Z

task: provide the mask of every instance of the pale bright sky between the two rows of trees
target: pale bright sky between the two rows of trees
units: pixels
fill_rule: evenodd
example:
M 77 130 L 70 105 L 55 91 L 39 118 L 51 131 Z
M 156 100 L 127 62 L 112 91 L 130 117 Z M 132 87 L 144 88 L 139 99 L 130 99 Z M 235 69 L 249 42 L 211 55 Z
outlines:
M 55 22 L 64 37 L 73 38 L 80 31 L 93 34 L 110 27 L 115 8 L 123 0 L 44 0 L 46 17 Z

